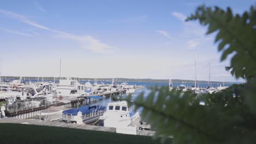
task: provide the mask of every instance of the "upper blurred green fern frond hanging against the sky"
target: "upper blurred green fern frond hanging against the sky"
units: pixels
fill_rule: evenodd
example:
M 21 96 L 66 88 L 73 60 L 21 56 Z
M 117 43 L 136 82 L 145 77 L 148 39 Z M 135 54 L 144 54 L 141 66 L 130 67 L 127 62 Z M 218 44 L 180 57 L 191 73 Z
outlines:
M 199 20 L 201 25 L 208 26 L 207 34 L 217 31 L 216 43 L 222 51 L 221 61 L 233 54 L 230 67 L 231 74 L 246 79 L 252 79 L 256 74 L 256 10 L 252 6 L 249 12 L 242 16 L 232 14 L 230 8 L 226 11 L 215 7 L 201 6 L 189 20 Z

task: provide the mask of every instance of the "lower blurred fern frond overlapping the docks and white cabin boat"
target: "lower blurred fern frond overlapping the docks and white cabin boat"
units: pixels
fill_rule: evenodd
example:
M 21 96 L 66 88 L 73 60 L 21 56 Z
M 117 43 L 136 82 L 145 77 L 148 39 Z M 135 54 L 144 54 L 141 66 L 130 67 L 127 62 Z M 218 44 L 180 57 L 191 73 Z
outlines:
M 156 129 L 156 137 L 173 137 L 173 143 L 253 143 L 256 115 L 249 112 L 241 91 L 245 85 L 234 85 L 222 92 L 196 96 L 168 87 L 152 88 L 131 102 L 137 110 L 143 107 L 142 119 Z M 205 106 L 200 101 L 205 101 Z M 251 135 L 247 137 L 248 135 Z M 248 143 L 248 142 L 247 142 Z

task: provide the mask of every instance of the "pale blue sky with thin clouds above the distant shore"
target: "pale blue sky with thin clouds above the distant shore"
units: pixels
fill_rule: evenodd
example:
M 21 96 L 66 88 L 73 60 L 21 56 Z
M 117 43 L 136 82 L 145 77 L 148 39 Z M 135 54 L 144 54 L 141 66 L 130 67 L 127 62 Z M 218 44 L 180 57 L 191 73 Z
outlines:
M 0 1 L 2 75 L 237 81 L 214 34 L 184 22 L 197 5 L 242 13 L 255 1 Z M 241 80 L 240 80 L 241 81 Z

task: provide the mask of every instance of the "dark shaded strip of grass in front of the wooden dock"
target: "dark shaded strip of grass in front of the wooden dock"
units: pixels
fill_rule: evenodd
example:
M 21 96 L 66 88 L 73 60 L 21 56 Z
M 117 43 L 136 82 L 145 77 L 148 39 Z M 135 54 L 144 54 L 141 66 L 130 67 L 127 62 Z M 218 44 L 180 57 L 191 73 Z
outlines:
M 1 143 L 160 143 L 148 136 L 40 125 L 0 123 L 0 128 Z

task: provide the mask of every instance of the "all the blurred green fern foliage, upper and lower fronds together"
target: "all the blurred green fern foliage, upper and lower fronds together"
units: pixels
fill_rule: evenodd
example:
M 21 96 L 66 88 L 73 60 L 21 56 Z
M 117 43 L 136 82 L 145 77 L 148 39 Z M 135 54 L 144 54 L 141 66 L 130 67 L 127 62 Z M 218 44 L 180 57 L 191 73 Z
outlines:
M 208 26 L 207 34 L 216 32 L 215 42 L 222 53 L 221 61 L 231 56 L 226 67 L 245 85 L 232 85 L 224 91 L 196 95 L 168 87 L 155 87 L 149 95 L 141 93 L 135 101 L 143 107 L 142 118 L 156 129 L 162 140 L 173 143 L 256 143 L 256 10 L 233 15 L 215 7 L 197 8 L 187 21 L 199 20 Z M 205 106 L 200 101 L 205 101 Z

